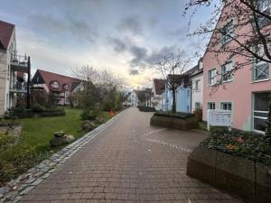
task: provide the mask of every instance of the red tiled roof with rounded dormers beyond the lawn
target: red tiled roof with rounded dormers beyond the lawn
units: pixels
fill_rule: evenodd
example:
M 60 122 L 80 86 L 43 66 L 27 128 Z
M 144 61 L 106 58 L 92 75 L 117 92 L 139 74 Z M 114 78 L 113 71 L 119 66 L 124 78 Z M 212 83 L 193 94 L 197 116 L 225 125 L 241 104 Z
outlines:
M 39 81 L 37 77 L 41 76 L 43 79 L 43 83 L 46 84 L 46 86 L 51 90 L 51 91 L 63 91 L 64 90 L 64 85 L 68 84 L 70 91 L 73 91 L 75 88 L 79 86 L 79 84 L 82 82 L 82 80 L 78 78 L 72 78 L 69 76 L 63 76 L 58 73 L 53 73 L 49 72 L 46 70 L 42 69 L 37 69 L 34 77 L 33 77 L 33 84 L 38 84 Z M 41 79 L 41 78 L 40 78 Z M 52 88 L 51 83 L 57 81 L 59 83 L 59 88 Z

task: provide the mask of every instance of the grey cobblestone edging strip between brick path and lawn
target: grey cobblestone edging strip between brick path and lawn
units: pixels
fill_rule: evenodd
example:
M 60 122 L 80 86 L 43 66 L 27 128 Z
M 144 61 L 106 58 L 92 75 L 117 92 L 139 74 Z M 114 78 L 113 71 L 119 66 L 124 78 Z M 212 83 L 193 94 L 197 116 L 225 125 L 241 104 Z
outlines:
M 48 178 L 51 173 L 67 161 L 70 156 L 75 152 L 78 152 L 81 147 L 89 143 L 89 141 L 106 129 L 108 125 L 111 125 L 117 119 L 117 116 L 121 115 L 123 112 L 124 111 L 112 117 L 107 123 L 99 125 L 88 134 L 83 135 L 74 143 L 70 143 L 59 152 L 52 154 L 49 159 L 42 161 L 32 169 L 20 175 L 17 179 L 9 181 L 4 187 L 0 188 L 0 203 L 15 203 L 19 201 L 23 198 L 23 195 L 29 193 L 43 180 Z

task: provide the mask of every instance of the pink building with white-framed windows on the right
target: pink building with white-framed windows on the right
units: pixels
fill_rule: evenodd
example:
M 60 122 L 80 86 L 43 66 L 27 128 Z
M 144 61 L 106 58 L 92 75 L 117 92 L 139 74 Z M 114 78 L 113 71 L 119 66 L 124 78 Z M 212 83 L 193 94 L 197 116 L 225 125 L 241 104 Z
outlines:
M 270 9 L 270 2 L 266 8 Z M 229 9 L 222 11 L 216 25 L 217 28 L 224 29 L 232 36 L 250 31 L 248 26 L 242 29 L 232 29 L 232 23 L 235 23 L 236 20 L 226 17 L 226 15 L 229 16 L 229 13 Z M 234 40 L 223 33 L 213 33 L 210 43 L 219 38 L 220 43 L 216 45 L 215 49 L 223 49 L 223 46 L 237 46 Z M 254 60 L 254 62 L 243 66 L 242 69 L 238 69 L 233 75 L 229 74 L 221 78 L 221 75 L 227 73 L 235 64 L 247 61 L 248 58 L 236 55 L 229 59 L 229 54 L 225 52 L 216 56 L 216 53 L 210 51 L 209 48 L 207 48 L 202 60 L 204 69 L 203 120 L 207 120 L 208 109 L 231 110 L 233 128 L 264 134 L 267 105 L 271 101 L 270 64 Z M 218 81 L 221 82 L 221 85 L 219 88 L 215 88 Z

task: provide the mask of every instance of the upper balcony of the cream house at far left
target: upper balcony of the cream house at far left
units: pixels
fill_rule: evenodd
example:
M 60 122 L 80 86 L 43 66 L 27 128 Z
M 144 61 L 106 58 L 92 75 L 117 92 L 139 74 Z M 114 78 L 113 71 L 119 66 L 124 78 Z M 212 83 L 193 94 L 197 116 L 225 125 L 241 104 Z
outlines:
M 28 72 L 28 57 L 26 55 L 21 56 L 17 53 L 11 55 L 10 65 L 14 71 Z

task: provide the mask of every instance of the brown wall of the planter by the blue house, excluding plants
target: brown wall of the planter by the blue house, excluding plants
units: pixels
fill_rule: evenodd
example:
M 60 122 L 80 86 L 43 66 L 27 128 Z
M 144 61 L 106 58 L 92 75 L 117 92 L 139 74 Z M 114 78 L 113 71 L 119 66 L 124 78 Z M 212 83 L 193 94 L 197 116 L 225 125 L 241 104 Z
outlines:
M 162 115 L 153 115 L 150 125 L 157 125 L 161 127 L 173 128 L 176 130 L 188 131 L 197 125 L 197 119 L 195 116 L 188 118 L 177 118 Z

